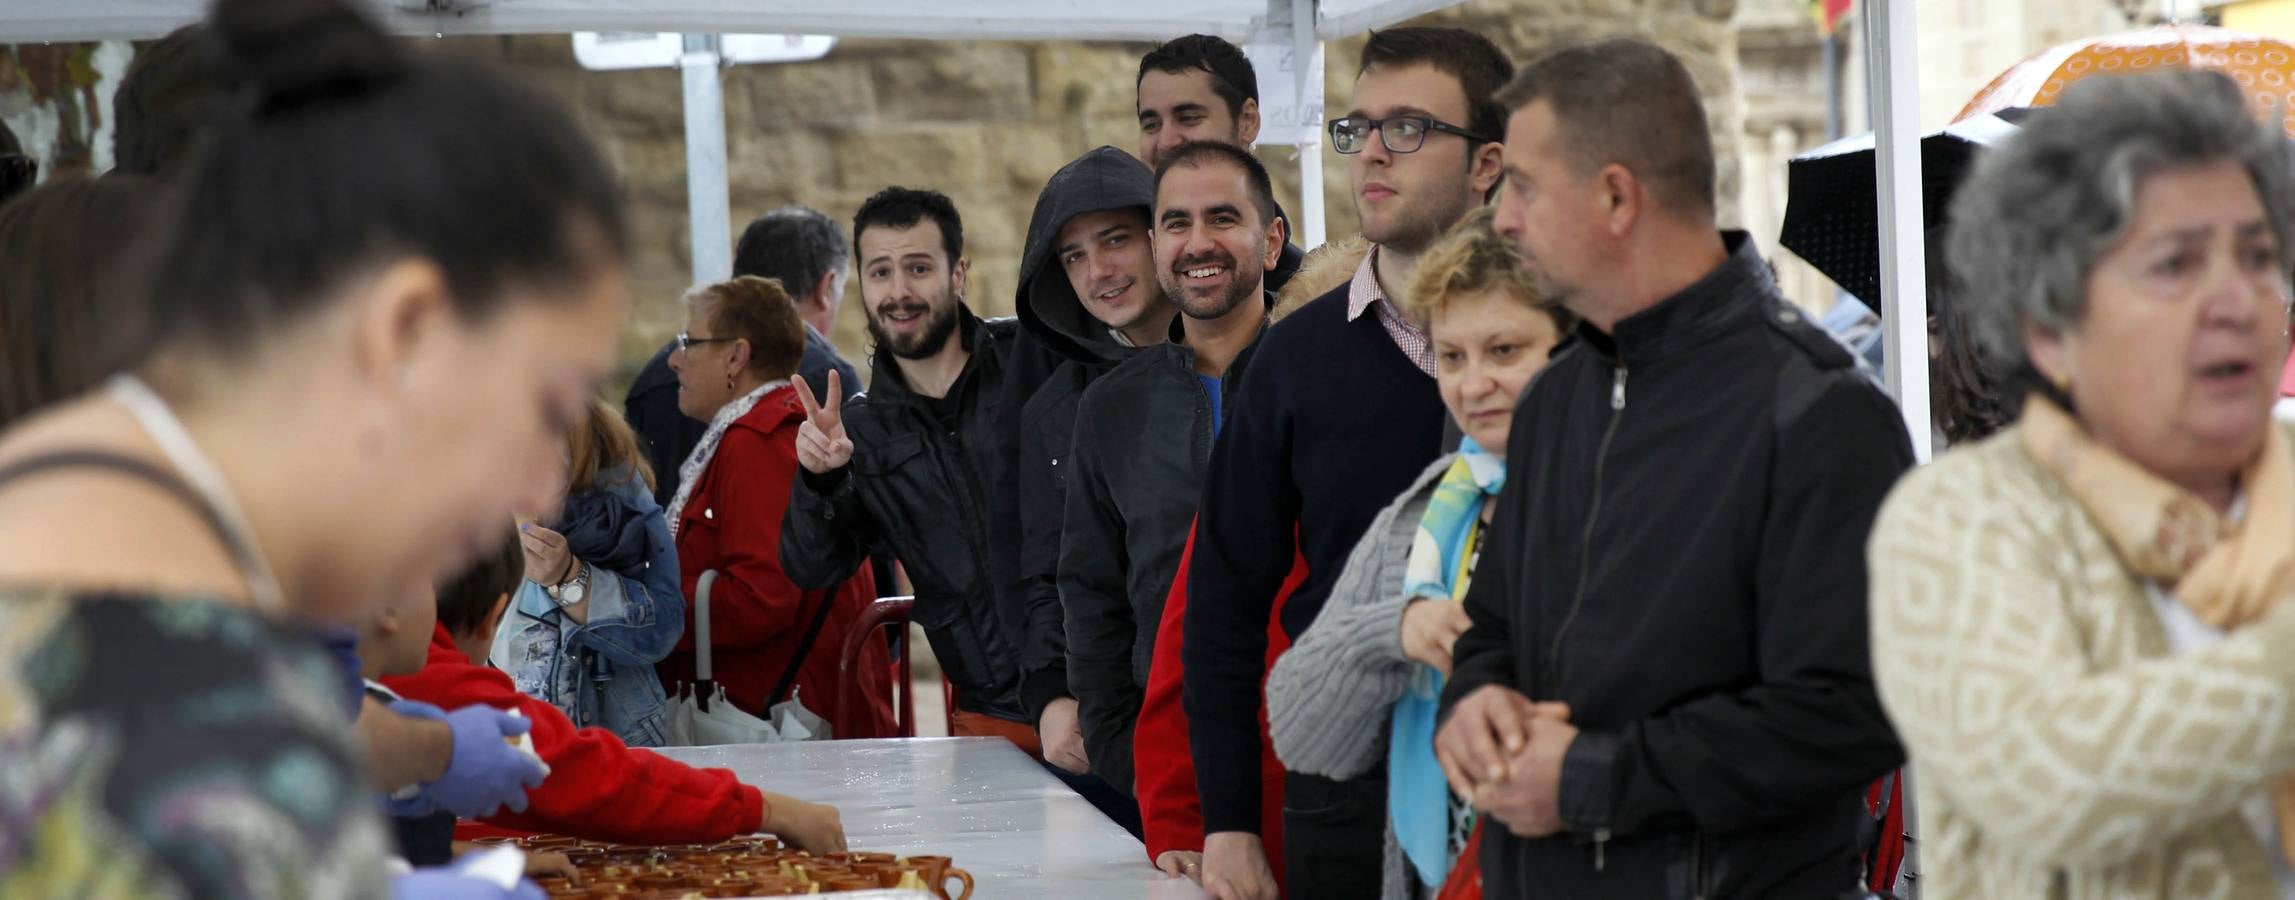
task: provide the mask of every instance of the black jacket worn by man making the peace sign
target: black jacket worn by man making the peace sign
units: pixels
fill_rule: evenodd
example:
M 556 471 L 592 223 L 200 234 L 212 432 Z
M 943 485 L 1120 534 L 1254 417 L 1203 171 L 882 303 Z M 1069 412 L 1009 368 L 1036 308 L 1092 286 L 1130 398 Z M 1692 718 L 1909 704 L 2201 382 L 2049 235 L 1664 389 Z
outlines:
M 799 588 L 826 590 L 884 542 L 916 585 L 911 620 L 957 684 L 957 707 L 1035 726 L 1019 700 L 1017 429 L 998 390 L 1019 324 L 962 305 L 957 317 L 971 358 L 950 386 L 952 427 L 879 349 L 870 393 L 845 402 L 854 459 L 826 475 L 799 468 L 780 567 Z

